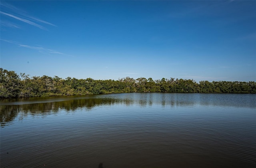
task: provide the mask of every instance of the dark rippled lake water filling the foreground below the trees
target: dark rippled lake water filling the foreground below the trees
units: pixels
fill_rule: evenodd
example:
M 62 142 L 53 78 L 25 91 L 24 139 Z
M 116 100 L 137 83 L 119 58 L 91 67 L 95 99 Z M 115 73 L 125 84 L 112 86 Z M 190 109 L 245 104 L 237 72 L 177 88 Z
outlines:
M 255 94 L 1 100 L 0 166 L 256 167 Z

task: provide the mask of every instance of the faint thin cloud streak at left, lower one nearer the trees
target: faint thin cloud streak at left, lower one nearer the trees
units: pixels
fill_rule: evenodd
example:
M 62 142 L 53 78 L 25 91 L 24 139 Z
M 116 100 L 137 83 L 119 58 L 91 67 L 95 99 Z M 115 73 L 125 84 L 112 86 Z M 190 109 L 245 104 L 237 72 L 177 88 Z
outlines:
M 63 52 L 58 52 L 56 50 L 52 50 L 52 49 L 48 49 L 48 48 L 44 48 L 44 47 L 24 45 L 24 44 L 20 44 L 18 42 L 14 42 L 12 40 L 5 40 L 5 39 L 0 39 L 0 40 L 2 40 L 4 42 L 11 43 L 11 44 L 15 44 L 15 45 L 20 46 L 20 47 L 30 48 L 30 49 L 33 49 L 33 50 L 38 50 L 38 52 L 48 52 L 48 53 L 52 53 L 52 54 L 60 54 L 60 55 L 65 55 L 65 56 L 72 56 L 72 55 L 64 54 Z

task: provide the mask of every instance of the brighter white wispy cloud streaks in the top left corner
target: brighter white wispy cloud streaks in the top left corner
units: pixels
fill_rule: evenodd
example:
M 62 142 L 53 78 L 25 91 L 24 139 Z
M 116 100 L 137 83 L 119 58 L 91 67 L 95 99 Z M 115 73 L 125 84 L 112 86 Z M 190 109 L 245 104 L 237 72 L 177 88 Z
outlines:
M 40 25 L 40 23 L 48 24 L 51 26 L 56 26 L 50 22 L 46 22 L 44 20 L 41 20 L 39 18 L 36 18 L 34 16 L 31 16 L 27 12 L 20 10 L 19 8 L 16 8 L 15 6 L 12 6 L 11 4 L 7 4 L 6 2 L 1 2 L 1 11 L 0 14 L 9 16 L 11 18 L 15 18 L 17 20 L 20 20 L 22 22 L 25 22 L 27 24 L 30 24 L 32 26 L 36 26 L 40 29 L 47 30 L 44 26 Z M 37 23 L 36 23 L 37 22 Z

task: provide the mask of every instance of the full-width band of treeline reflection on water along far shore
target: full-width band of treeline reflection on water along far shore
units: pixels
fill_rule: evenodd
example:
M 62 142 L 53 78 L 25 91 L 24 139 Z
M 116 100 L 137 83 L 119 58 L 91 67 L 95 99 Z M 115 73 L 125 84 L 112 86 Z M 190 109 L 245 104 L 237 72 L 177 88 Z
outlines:
M 241 96 L 242 95 L 242 96 Z M 239 97 L 239 98 L 238 98 Z M 235 106 L 255 108 L 256 96 L 253 94 L 164 94 L 164 93 L 131 93 L 88 96 L 55 96 L 35 98 L 1 99 L 0 122 L 6 126 L 18 113 L 46 115 L 58 113 L 59 110 L 75 111 L 78 108 L 90 110 L 94 106 L 138 104 L 139 106 Z M 22 117 L 19 118 L 22 120 Z

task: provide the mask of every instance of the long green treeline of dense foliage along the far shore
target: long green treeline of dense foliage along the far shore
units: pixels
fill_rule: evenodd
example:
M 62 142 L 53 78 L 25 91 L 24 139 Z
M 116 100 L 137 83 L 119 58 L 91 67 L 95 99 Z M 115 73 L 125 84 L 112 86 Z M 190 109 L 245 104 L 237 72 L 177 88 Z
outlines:
M 35 97 L 60 95 L 108 94 L 123 92 L 176 92 L 176 93 L 256 93 L 256 82 L 200 81 L 175 78 L 130 77 L 120 80 L 94 80 L 92 78 L 62 79 L 58 76 L 16 74 L 0 68 L 0 97 Z

